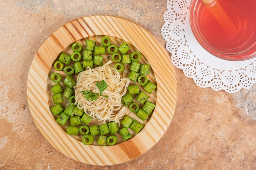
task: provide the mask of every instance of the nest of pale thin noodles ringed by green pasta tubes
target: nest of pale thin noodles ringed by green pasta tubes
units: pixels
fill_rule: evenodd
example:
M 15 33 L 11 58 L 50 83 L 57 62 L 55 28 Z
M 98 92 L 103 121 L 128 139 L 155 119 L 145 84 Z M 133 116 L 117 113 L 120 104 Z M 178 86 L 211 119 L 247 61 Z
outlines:
M 109 66 L 111 62 L 96 68 L 88 68 L 79 73 L 77 76 L 75 91 L 75 104 L 78 108 L 83 109 L 85 113 L 98 121 L 115 121 L 120 125 L 120 119 L 126 115 L 126 107 L 121 104 L 121 97 L 126 94 L 130 80 L 126 77 L 127 72 L 120 75 L 117 69 Z M 99 94 L 97 82 L 104 80 L 108 87 L 103 91 L 102 95 L 109 98 L 99 96 L 96 101 L 90 102 L 85 99 L 81 91 L 92 91 Z

